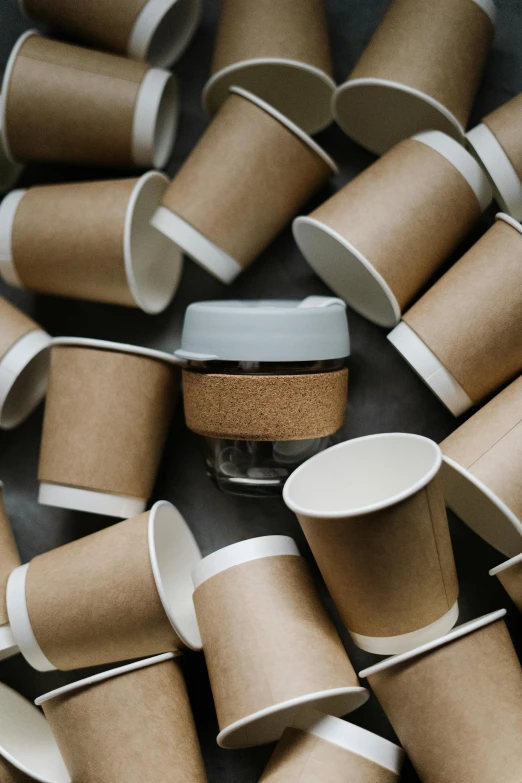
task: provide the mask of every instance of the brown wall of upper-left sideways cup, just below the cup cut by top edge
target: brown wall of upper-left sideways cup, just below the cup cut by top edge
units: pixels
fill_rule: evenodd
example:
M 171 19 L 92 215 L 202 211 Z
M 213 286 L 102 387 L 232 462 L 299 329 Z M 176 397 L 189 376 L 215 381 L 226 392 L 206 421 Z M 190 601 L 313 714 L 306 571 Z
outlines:
M 132 133 L 148 66 L 29 36 L 7 86 L 5 131 L 21 161 L 133 165 Z

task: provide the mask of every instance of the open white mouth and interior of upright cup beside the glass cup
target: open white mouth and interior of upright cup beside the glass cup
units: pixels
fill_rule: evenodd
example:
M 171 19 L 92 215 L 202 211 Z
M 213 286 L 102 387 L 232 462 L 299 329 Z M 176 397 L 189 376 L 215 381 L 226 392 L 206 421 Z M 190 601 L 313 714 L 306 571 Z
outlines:
M 437 444 L 420 435 L 357 438 L 305 462 L 287 481 L 284 498 L 298 514 L 358 516 L 418 492 L 440 464 Z

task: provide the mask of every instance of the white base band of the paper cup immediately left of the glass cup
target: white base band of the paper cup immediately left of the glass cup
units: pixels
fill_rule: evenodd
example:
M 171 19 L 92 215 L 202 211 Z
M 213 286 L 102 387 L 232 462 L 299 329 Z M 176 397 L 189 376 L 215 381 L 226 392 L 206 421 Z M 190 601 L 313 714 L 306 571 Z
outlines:
M 71 511 L 87 511 L 108 517 L 129 519 L 145 511 L 147 500 L 143 498 L 95 492 L 90 489 L 67 487 L 62 484 L 40 483 L 38 502 L 44 506 L 67 508 Z

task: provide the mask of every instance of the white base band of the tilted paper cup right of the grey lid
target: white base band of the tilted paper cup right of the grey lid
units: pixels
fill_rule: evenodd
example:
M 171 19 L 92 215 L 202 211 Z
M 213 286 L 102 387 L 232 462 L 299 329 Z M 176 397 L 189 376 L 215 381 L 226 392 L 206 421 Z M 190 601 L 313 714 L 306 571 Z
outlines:
M 462 386 L 404 321 L 390 332 L 388 340 L 454 416 L 473 407 Z

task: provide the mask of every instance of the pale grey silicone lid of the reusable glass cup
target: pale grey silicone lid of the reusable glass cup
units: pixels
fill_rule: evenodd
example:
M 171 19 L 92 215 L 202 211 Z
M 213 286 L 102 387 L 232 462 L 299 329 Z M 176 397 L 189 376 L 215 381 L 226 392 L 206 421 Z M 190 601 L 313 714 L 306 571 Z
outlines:
M 196 302 L 185 314 L 176 355 L 195 361 L 291 362 L 341 359 L 350 353 L 341 299 Z

